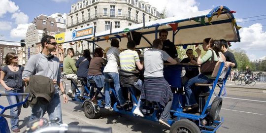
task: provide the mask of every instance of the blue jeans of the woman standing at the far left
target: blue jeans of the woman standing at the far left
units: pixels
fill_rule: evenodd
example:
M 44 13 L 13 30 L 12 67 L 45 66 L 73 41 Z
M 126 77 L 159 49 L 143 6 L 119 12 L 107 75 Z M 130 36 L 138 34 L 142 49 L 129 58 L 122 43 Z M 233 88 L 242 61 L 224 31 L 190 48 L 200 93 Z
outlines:
M 10 91 L 5 90 L 5 93 L 7 93 L 7 94 L 23 93 L 23 92 L 24 92 L 23 89 L 10 90 Z M 6 98 L 8 100 L 9 105 L 13 105 L 13 104 L 16 104 L 18 102 L 22 102 L 22 100 L 23 100 L 23 96 L 6 96 Z M 18 125 L 18 122 L 19 122 L 18 116 L 20 115 L 21 107 L 22 107 L 22 105 L 10 108 L 10 115 L 14 116 L 14 118 L 10 120 L 11 121 L 11 130 L 12 131 L 19 128 L 18 127 L 19 126 Z

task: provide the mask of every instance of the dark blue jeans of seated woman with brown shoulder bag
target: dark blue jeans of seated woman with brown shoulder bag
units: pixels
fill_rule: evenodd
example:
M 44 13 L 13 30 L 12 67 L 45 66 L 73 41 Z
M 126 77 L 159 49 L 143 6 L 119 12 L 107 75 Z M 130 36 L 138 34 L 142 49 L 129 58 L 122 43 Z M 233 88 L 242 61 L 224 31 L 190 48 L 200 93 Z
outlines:
M 203 75 L 202 73 L 194 78 L 191 78 L 184 86 L 185 94 L 186 94 L 186 106 L 192 106 L 197 103 L 197 100 L 195 98 L 195 92 L 199 90 L 198 88 L 195 88 L 195 83 L 211 83 L 213 82 L 213 80 L 214 79 L 210 79 L 206 77 L 205 75 Z M 204 86 L 203 91 L 205 92 L 209 91 L 209 87 Z

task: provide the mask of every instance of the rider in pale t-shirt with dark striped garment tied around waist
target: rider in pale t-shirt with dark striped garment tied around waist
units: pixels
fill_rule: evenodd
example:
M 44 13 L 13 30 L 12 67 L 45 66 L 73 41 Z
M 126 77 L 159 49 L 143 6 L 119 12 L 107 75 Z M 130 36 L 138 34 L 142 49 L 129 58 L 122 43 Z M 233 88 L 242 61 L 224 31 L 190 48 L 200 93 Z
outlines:
M 159 102 L 164 107 L 159 122 L 170 127 L 167 120 L 170 115 L 173 94 L 164 78 L 164 61 L 168 61 L 170 64 L 177 62 L 162 50 L 162 40 L 155 39 L 152 42 L 152 47 L 144 52 L 144 87 L 141 91 L 141 99 Z

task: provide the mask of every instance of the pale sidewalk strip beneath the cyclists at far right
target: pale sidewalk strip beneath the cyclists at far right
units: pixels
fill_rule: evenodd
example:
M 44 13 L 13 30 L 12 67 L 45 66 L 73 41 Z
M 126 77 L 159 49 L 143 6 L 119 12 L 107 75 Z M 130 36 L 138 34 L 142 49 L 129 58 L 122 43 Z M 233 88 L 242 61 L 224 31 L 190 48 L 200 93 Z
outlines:
M 256 82 L 256 85 L 249 86 L 249 85 L 244 85 L 244 84 L 242 84 L 242 85 L 235 85 L 234 84 L 234 81 L 227 81 L 226 87 L 266 90 L 266 82 Z

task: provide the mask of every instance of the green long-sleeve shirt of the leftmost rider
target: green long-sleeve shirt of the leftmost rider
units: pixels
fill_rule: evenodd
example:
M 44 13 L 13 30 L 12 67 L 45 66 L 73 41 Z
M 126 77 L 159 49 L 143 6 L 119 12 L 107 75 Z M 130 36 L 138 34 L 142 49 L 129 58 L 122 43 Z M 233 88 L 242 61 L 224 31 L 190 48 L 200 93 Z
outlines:
M 77 67 L 75 66 L 74 59 L 66 56 L 63 61 L 64 74 L 77 73 Z

